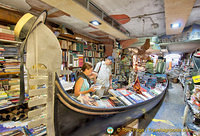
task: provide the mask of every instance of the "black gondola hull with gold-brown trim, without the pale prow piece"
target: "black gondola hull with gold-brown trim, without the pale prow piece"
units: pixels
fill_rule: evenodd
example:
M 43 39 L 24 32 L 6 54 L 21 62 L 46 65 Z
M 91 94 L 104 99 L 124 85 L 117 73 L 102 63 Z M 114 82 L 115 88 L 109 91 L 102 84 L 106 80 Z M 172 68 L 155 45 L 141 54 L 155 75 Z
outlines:
M 109 126 L 113 128 L 120 127 L 126 122 L 137 119 L 150 111 L 161 101 L 165 95 L 166 88 L 160 95 L 131 106 L 114 109 L 93 106 L 82 107 L 83 105 L 80 103 L 73 104 L 69 100 L 71 99 L 70 96 L 64 93 L 65 91 L 57 78 L 54 111 L 56 135 L 96 136 L 106 133 L 106 129 Z

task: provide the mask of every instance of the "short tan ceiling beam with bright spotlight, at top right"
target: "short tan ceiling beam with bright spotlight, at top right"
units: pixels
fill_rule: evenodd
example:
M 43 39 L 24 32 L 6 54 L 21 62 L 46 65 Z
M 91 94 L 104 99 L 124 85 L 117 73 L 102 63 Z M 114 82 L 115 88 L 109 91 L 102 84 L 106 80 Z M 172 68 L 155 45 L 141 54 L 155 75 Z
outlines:
M 165 24 L 167 35 L 182 33 L 195 1 L 196 0 L 165 0 Z M 180 27 L 172 29 L 171 24 L 174 23 L 180 23 Z

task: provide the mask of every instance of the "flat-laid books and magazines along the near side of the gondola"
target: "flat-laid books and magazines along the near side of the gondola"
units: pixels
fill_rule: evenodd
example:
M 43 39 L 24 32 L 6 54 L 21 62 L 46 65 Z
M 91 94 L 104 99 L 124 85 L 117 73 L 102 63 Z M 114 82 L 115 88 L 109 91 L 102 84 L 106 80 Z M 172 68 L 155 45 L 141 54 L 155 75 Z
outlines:
M 148 89 L 146 87 L 141 87 L 141 91 L 142 94 L 138 94 L 134 90 L 127 90 L 125 88 L 116 90 L 109 89 L 108 92 L 110 95 L 98 100 L 85 95 L 79 96 L 78 99 L 81 103 L 86 105 L 110 108 L 137 104 L 152 99 L 162 92 L 162 90 L 158 88 Z

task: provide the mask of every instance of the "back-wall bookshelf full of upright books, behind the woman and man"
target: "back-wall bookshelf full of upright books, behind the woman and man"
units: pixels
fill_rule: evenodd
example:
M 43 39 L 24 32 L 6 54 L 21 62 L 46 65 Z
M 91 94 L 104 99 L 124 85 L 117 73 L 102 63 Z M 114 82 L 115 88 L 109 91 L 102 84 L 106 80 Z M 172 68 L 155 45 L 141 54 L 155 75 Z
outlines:
M 103 60 L 105 46 L 100 43 L 82 42 L 73 36 L 58 36 L 62 49 L 63 68 L 81 68 L 84 62 L 91 62 L 94 66 Z

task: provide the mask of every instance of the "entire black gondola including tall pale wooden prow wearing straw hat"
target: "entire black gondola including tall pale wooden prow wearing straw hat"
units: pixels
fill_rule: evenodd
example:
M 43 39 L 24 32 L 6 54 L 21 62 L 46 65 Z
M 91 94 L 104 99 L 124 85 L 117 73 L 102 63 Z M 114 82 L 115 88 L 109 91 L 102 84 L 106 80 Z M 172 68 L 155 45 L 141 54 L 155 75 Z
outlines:
M 27 16 L 29 19 L 26 19 Z M 27 16 L 22 19 L 26 19 L 27 23 L 21 25 L 19 21 L 16 26 L 19 26 L 19 37 L 21 33 L 26 33 L 20 51 L 21 58 L 24 57 L 25 49 L 27 53 L 29 129 L 46 125 L 47 135 L 52 136 L 101 135 L 108 127 L 117 128 L 141 117 L 164 97 L 167 85 L 159 95 L 129 106 L 103 108 L 80 103 L 64 90 L 59 80 L 62 52 L 56 36 L 44 25 L 47 13 L 44 11 L 38 18 Z M 24 60 L 21 60 L 20 70 L 23 73 Z M 21 74 L 21 103 L 24 101 L 24 88 Z

